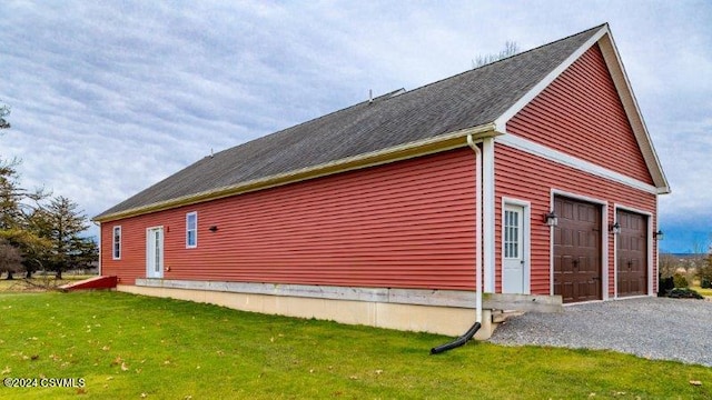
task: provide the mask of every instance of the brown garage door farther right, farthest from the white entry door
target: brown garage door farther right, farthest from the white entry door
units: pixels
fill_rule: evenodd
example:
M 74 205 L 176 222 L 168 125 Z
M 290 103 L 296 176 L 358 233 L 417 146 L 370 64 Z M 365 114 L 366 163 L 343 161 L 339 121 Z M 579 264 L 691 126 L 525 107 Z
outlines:
M 621 224 L 617 234 L 617 294 L 647 293 L 647 217 L 634 212 L 616 212 Z

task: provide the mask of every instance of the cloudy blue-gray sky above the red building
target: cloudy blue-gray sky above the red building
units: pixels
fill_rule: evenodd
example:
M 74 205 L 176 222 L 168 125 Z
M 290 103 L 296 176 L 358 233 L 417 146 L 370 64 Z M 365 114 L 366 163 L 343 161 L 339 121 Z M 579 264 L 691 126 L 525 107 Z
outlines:
M 666 251 L 712 233 L 712 2 L 13 1 L 0 157 L 95 216 L 210 153 L 609 22 L 673 193 Z

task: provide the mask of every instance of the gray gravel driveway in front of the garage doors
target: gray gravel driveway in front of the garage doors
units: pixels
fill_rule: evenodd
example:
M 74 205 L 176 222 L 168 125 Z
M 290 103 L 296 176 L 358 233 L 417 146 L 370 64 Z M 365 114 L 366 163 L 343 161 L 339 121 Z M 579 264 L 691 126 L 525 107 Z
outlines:
M 637 298 L 527 312 L 507 319 L 490 341 L 609 349 L 712 367 L 712 301 Z

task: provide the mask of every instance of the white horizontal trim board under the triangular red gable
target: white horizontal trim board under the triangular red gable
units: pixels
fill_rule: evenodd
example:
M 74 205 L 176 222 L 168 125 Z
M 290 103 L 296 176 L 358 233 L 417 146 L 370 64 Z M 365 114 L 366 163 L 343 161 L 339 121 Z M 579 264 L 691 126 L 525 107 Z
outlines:
M 532 140 L 524 139 L 517 137 L 515 134 L 508 133 L 504 136 L 500 136 L 494 138 L 497 143 L 508 146 L 511 148 L 525 151 L 530 154 L 544 158 L 550 161 L 557 162 L 560 164 L 564 164 L 571 168 L 575 168 L 577 170 L 592 173 L 596 177 L 610 179 L 617 183 L 625 184 L 627 187 L 645 191 L 651 194 L 659 194 L 660 191 L 652 184 L 640 181 L 635 178 L 631 178 L 623 173 L 610 170 L 605 167 L 601 167 L 599 164 L 594 164 L 593 162 L 582 160 L 577 157 L 570 156 L 563 151 L 554 150 L 544 144 L 536 143 Z

